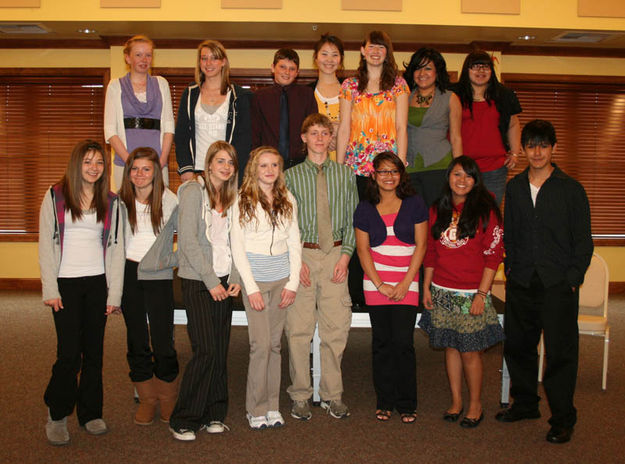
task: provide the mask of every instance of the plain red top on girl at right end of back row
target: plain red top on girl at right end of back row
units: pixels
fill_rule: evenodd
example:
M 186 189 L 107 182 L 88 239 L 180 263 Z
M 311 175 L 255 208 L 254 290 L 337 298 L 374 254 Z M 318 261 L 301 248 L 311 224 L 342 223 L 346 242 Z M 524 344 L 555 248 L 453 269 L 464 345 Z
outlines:
M 475 160 L 480 171 L 494 171 L 503 166 L 506 148 L 499 132 L 499 111 L 494 102 L 473 102 L 473 117 L 469 108 L 462 109 L 462 150 Z

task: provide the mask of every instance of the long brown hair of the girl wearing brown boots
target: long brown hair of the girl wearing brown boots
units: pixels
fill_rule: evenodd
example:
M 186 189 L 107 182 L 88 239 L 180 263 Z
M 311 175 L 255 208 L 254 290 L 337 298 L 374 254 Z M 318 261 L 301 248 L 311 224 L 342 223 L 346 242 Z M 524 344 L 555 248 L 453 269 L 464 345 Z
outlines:
M 139 147 L 132 150 L 132 153 L 130 153 L 130 156 L 128 156 L 128 159 L 126 160 L 126 165 L 124 166 L 122 188 L 119 189 L 119 196 L 126 205 L 130 230 L 134 234 L 137 231 L 137 209 L 135 208 L 135 199 L 137 195 L 135 186 L 130 180 L 130 171 L 135 160 L 138 159 L 151 161 L 154 169 L 152 191 L 148 196 L 148 206 L 150 208 L 152 230 L 154 231 L 154 235 L 158 235 L 163 225 L 163 191 L 165 190 L 165 185 L 163 183 L 163 172 L 161 171 L 158 153 L 156 153 L 154 148 Z

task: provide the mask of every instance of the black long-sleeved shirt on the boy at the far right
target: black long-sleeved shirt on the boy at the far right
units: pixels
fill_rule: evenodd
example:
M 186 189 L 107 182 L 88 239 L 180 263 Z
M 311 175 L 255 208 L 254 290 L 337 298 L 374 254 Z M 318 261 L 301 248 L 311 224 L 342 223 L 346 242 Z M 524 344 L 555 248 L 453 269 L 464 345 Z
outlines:
M 504 245 L 506 275 L 529 287 L 534 271 L 545 287 L 578 287 L 590 264 L 593 243 L 584 187 L 555 164 L 532 204 L 529 169 L 506 188 Z

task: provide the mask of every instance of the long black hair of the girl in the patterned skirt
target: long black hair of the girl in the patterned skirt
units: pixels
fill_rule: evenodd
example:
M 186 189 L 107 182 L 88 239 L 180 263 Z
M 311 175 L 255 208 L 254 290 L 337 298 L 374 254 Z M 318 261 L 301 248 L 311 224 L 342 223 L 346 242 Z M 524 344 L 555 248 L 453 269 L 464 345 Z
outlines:
M 475 183 L 473 188 L 467 195 L 467 199 L 464 202 L 464 208 L 462 214 L 458 220 L 458 229 L 456 236 L 458 239 L 469 237 L 475 237 L 478 226 L 482 225 L 482 231 L 485 231 L 488 227 L 488 221 L 490 214 L 493 212 L 497 219 L 501 221 L 501 212 L 497 207 L 495 198 L 484 186 L 482 180 L 482 173 L 477 167 L 477 163 L 473 158 L 469 158 L 466 155 L 454 158 L 449 167 L 445 178 L 447 183 L 443 187 L 441 196 L 434 202 L 433 208 L 436 211 L 436 222 L 432 226 L 432 238 L 438 240 L 441 234 L 447 230 L 451 223 L 451 218 L 454 210 L 453 193 L 449 187 L 449 176 L 454 167 L 460 165 L 464 172 L 470 175 Z

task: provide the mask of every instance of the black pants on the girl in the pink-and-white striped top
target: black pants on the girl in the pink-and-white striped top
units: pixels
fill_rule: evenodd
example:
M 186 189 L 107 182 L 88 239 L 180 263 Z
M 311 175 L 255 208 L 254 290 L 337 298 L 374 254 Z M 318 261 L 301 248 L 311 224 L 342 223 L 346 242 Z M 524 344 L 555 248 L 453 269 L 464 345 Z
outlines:
M 371 319 L 373 385 L 377 409 L 411 413 L 417 409 L 414 329 L 417 308 L 367 306 Z

